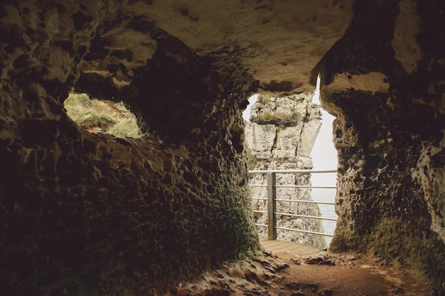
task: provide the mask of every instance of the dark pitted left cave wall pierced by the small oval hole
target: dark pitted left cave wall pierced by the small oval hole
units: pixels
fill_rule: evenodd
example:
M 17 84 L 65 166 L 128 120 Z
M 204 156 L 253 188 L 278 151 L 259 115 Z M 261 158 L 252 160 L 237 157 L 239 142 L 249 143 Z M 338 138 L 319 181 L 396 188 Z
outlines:
M 259 250 L 240 111 L 256 80 L 124 12 L 1 6 L 1 295 L 147 295 Z M 72 89 L 123 99 L 148 134 L 82 131 Z

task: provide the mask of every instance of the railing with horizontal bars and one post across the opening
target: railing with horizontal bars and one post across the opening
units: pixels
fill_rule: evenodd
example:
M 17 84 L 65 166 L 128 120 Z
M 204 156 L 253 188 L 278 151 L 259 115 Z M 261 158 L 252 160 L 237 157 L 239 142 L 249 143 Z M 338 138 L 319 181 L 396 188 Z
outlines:
M 333 234 L 325 234 L 317 231 L 309 231 L 303 229 L 291 229 L 286 227 L 277 226 L 277 216 L 294 216 L 299 218 L 307 218 L 307 219 L 322 219 L 322 220 L 330 220 L 337 221 L 337 219 L 327 218 L 323 216 L 308 216 L 301 214 L 292 214 L 292 213 L 282 213 L 277 212 L 277 202 L 304 202 L 307 204 L 331 204 L 334 205 L 334 202 L 319 202 L 313 200 L 303 200 L 303 199 L 279 199 L 277 198 L 277 187 L 284 188 L 325 188 L 325 189 L 336 189 L 336 187 L 330 186 L 311 186 L 311 185 L 277 185 L 277 174 L 314 174 L 314 173 L 332 173 L 337 172 L 336 170 L 250 170 L 250 174 L 266 174 L 267 175 L 267 184 L 250 184 L 250 187 L 267 187 L 267 198 L 261 197 L 252 197 L 252 199 L 264 200 L 267 201 L 267 211 L 255 210 L 252 211 L 255 213 L 267 214 L 267 224 L 258 224 L 257 226 L 267 227 L 267 239 L 275 240 L 277 239 L 277 229 L 289 230 L 289 231 L 298 231 L 306 234 L 318 234 L 321 236 L 333 236 Z

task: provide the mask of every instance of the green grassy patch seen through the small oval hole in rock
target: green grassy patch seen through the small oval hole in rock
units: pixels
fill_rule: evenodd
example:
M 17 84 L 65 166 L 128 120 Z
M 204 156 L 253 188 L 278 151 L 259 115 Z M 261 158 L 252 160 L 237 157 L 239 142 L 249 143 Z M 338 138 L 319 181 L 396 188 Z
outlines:
M 100 101 L 90 99 L 87 94 L 71 93 L 63 106 L 68 116 L 90 133 L 111 133 L 119 138 L 141 136 L 136 116 L 123 102 Z

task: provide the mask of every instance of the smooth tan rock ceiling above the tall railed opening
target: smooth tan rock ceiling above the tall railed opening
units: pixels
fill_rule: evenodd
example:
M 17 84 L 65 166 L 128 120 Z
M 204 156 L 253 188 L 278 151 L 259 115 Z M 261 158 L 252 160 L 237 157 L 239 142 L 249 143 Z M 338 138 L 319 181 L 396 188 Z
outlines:
M 181 40 L 196 55 L 236 55 L 264 90 L 304 92 L 313 90 L 309 84 L 313 68 L 348 28 L 352 4 L 352 0 L 297 5 L 271 0 L 129 1 L 119 13 L 110 14 L 113 22 L 102 28 L 101 35 L 109 43 L 107 48 L 132 51 L 131 62 L 125 62 L 130 74 L 156 51 L 156 42 L 148 35 L 125 26 L 129 16 L 138 16 Z M 117 60 L 109 56 L 82 62 L 82 70 L 107 75 L 105 67 Z M 128 80 L 119 72 L 114 77 L 117 85 Z

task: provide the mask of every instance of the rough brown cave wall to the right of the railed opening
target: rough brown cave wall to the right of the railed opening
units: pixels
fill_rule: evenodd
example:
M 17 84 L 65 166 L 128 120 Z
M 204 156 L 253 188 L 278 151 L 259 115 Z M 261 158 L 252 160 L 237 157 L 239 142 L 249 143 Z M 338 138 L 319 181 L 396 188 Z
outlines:
M 445 4 L 357 2 L 323 58 L 335 114 L 339 215 L 332 251 L 392 258 L 445 289 Z M 380 32 L 376 34 L 376 32 Z

